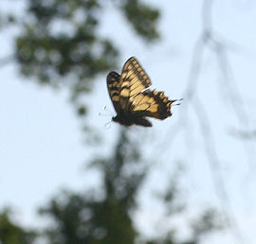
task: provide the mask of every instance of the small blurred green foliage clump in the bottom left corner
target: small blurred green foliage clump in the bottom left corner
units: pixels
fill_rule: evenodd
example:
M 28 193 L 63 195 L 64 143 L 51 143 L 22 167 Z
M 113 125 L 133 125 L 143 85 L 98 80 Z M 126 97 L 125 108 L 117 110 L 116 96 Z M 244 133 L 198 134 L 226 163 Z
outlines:
M 20 227 L 10 218 L 10 211 L 0 213 L 0 243 L 1 244 L 32 244 L 36 233 Z

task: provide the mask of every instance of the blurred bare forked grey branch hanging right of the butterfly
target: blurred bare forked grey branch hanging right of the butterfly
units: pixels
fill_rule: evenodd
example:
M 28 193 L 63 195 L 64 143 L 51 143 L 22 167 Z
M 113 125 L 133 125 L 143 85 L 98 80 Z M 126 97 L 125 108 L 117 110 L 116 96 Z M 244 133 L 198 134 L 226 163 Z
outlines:
M 196 88 L 198 87 L 198 77 L 200 75 L 202 67 L 202 58 L 204 55 L 204 51 L 206 49 L 213 49 L 214 53 L 218 57 L 218 63 L 220 66 L 220 70 L 222 71 L 223 78 L 226 80 L 226 84 L 229 88 L 229 99 L 233 105 L 234 111 L 241 124 L 248 123 L 248 116 L 243 105 L 242 96 L 239 94 L 238 89 L 236 89 L 234 84 L 231 84 L 230 82 L 230 80 L 233 80 L 233 78 L 231 78 L 230 76 L 231 72 L 229 68 L 227 53 L 225 51 L 225 45 L 217 42 L 213 36 L 213 30 L 211 26 L 212 4 L 213 0 L 205 0 L 203 3 L 203 30 L 193 48 L 191 68 L 188 77 L 188 85 L 183 96 L 183 111 L 181 112 L 181 116 L 177 122 L 177 125 L 173 127 L 172 140 L 170 140 L 170 133 L 168 133 L 165 142 L 172 142 L 179 131 L 186 129 L 189 126 L 189 105 L 192 105 L 192 109 L 196 113 L 198 123 L 200 125 L 201 134 L 204 139 L 204 146 L 208 161 L 210 163 L 211 178 L 218 200 L 226 211 L 229 210 L 229 213 L 231 215 L 229 216 L 229 219 L 232 220 L 231 230 L 234 237 L 238 242 L 245 243 L 244 236 L 241 234 L 237 225 L 237 221 L 234 219 L 234 215 L 231 210 L 232 208 L 229 200 L 229 194 L 221 173 L 221 161 L 218 158 L 218 153 L 216 151 L 214 139 L 211 133 L 210 119 L 205 112 L 205 109 L 199 97 L 196 96 Z

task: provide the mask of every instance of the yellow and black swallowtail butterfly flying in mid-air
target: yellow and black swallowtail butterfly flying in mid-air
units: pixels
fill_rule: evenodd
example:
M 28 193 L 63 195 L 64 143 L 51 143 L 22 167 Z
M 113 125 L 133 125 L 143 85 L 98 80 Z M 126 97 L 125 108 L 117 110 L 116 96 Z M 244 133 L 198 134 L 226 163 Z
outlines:
M 146 117 L 165 119 L 172 116 L 170 100 L 163 92 L 147 89 L 150 78 L 135 57 L 126 61 L 121 75 L 112 71 L 107 75 L 107 88 L 117 112 L 112 120 L 123 126 L 152 127 Z

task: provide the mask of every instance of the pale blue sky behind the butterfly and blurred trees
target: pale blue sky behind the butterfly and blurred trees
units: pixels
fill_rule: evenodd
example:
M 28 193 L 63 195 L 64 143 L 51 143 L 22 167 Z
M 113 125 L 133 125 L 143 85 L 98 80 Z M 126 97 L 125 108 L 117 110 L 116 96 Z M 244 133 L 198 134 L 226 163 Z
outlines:
M 0 9 L 19 10 L 19 14 L 20 9 L 26 6 L 4 2 L 0 4 Z M 150 2 L 162 13 L 159 44 L 144 44 L 111 4 L 106 4 L 101 16 L 101 35 L 112 36 L 122 50 L 118 72 L 124 61 L 136 56 L 152 79 L 153 88 L 165 91 L 172 98 L 183 97 L 190 80 L 193 47 L 202 31 L 203 1 Z M 151 198 L 152 190 L 163 190 L 177 162 L 182 162 L 185 174 L 182 174 L 180 182 L 191 206 L 191 211 L 186 213 L 188 217 L 198 213 L 202 207 L 213 205 L 224 209 L 235 219 L 237 229 L 246 240 L 244 243 L 253 243 L 256 237 L 255 140 L 242 141 L 233 135 L 233 131 L 255 130 L 255 21 L 256 3 L 252 0 L 213 1 L 211 24 L 214 37 L 225 44 L 228 51 L 226 78 L 229 83 L 223 77 L 223 63 L 220 69 L 216 54 L 206 49 L 196 79 L 196 97 L 200 98 L 210 121 L 219 167 L 210 163 L 205 153 L 207 139 L 202 136 L 196 106 L 189 105 L 189 115 L 184 117 L 186 101 L 174 107 L 172 118 L 154 120 L 151 129 L 131 130 L 135 135 L 146 138 L 143 141 L 146 158 L 154 157 L 155 151 L 159 151 L 147 188 L 139 196 L 143 211 L 136 215 L 136 220 L 141 232 L 151 235 L 163 227 L 158 223 L 158 217 L 163 213 L 157 202 L 143 199 Z M 16 33 L 11 29 L 1 32 L 0 58 L 12 52 L 12 38 Z M 13 207 L 18 221 L 27 226 L 33 225 L 35 219 L 40 224 L 43 221 L 37 217 L 36 210 L 46 205 L 60 189 L 80 190 L 88 182 L 97 184 L 98 175 L 85 173 L 84 170 L 84 163 L 96 152 L 84 144 L 82 123 L 64 88 L 56 91 L 40 87 L 34 80 L 23 78 L 15 64 L 1 67 L 1 80 L 0 208 Z M 246 117 L 240 113 L 237 115 L 234 110 L 234 99 L 229 98 L 232 96 L 230 87 L 243 98 L 247 123 Z M 238 108 L 241 108 L 240 100 L 236 96 L 234 98 L 238 100 Z M 99 116 L 104 106 L 114 114 L 106 91 L 105 76 L 98 78 L 97 87 L 88 100 L 91 102 L 90 122 L 101 131 L 104 143 L 108 145 L 102 153 L 108 154 L 119 125 L 111 123 L 106 129 L 104 124 L 111 119 L 111 115 Z M 181 124 L 186 126 L 176 135 Z M 214 172 L 221 173 L 229 200 L 220 200 L 221 193 L 214 185 L 218 176 Z M 174 221 L 177 226 L 184 226 L 180 219 Z M 186 231 L 181 235 L 186 235 Z M 204 243 L 237 243 L 236 239 L 232 230 L 227 230 L 207 238 Z

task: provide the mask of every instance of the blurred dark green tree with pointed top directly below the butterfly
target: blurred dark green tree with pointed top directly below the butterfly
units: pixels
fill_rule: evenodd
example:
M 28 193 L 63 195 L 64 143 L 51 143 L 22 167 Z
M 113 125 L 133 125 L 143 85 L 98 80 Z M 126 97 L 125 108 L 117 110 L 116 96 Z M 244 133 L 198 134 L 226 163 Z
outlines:
M 135 243 L 137 232 L 129 213 L 145 173 L 135 145 L 122 131 L 113 156 L 92 164 L 102 169 L 102 192 L 65 192 L 41 210 L 54 219 L 53 227 L 46 230 L 48 243 Z

